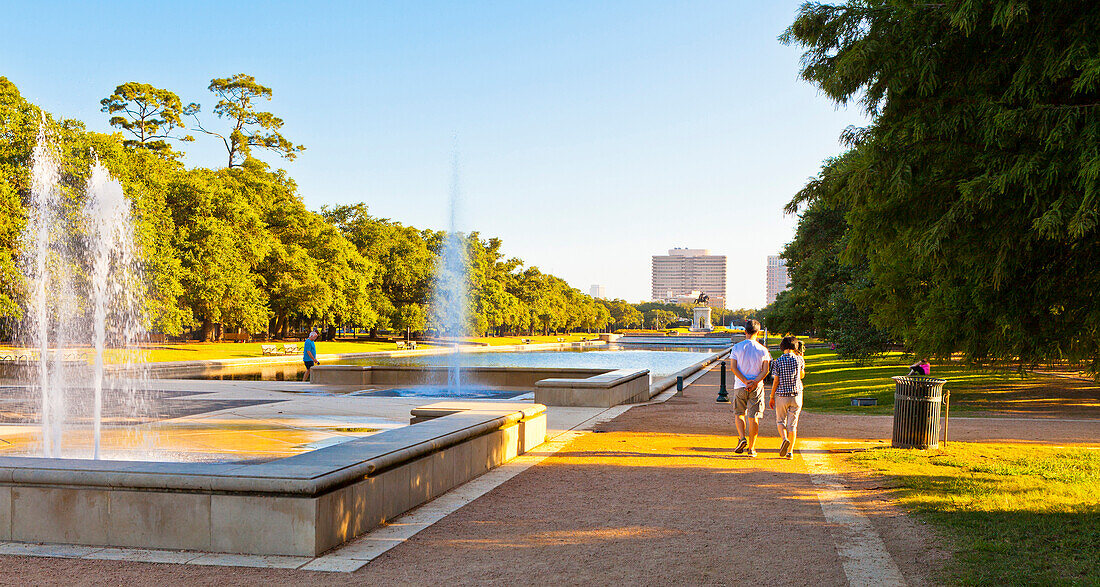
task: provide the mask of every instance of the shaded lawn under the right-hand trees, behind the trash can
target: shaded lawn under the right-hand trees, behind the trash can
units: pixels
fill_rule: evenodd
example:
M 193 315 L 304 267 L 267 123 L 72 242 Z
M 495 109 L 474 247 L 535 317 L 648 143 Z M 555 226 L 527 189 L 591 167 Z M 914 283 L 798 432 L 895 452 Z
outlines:
M 772 353 L 773 355 L 777 353 Z M 842 361 L 827 348 L 806 351 L 804 407 L 809 410 L 892 413 L 894 383 L 909 362 L 891 353 L 871 365 Z M 978 369 L 961 363 L 934 364 L 932 375 L 947 379 L 952 414 L 997 411 L 1005 414 L 1074 410 L 1078 417 L 1100 417 L 1100 384 L 1003 369 Z M 857 408 L 851 398 L 873 397 L 878 406 Z

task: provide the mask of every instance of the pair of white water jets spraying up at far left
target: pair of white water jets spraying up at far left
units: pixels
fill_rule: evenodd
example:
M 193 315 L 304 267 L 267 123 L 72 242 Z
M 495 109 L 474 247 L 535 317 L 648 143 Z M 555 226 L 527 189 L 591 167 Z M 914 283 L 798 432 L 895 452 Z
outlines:
M 139 374 L 111 381 L 112 388 L 129 411 L 140 405 L 138 342 L 144 332 L 144 288 L 130 203 L 122 186 L 97 158 L 85 186 L 80 213 L 69 212 L 73 207 L 62 189 L 58 152 L 45 126 L 40 125 L 33 151 L 21 259 L 30 286 L 25 339 L 37 353 L 33 387 L 41 397 L 42 455 L 73 455 L 64 450 L 63 438 L 67 417 L 74 411 L 67 405 L 76 389 L 70 379 L 79 369 L 74 367 L 77 362 L 66 361 L 66 348 L 90 343 L 91 456 L 99 458 L 108 341 L 119 346 L 122 363 L 130 364 L 125 370 Z

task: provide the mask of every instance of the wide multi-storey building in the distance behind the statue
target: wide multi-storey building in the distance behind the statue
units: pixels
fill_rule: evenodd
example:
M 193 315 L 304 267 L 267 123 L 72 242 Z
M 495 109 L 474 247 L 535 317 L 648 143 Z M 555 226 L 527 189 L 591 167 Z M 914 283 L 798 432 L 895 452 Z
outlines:
M 671 248 L 668 255 L 653 255 L 651 284 L 654 300 L 676 303 L 676 298 L 703 292 L 712 307 L 725 308 L 726 256 L 706 248 Z

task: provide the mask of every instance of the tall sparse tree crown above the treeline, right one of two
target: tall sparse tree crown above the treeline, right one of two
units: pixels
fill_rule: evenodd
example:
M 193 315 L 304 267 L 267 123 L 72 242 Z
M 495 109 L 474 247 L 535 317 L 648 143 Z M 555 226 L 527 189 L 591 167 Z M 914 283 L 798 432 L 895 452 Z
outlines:
M 256 110 L 253 101 L 260 98 L 271 100 L 272 89 L 257 84 L 254 77 L 237 74 L 231 78 L 215 78 L 210 80 L 208 89 L 218 97 L 215 114 L 229 121 L 230 131 L 222 134 L 207 130 L 198 122 L 197 115 L 196 130 L 221 139 L 229 156 L 227 167 L 238 167 L 244 163 L 252 156 L 252 147 L 266 148 L 292 160 L 306 149 L 279 134 L 283 119 L 271 112 Z

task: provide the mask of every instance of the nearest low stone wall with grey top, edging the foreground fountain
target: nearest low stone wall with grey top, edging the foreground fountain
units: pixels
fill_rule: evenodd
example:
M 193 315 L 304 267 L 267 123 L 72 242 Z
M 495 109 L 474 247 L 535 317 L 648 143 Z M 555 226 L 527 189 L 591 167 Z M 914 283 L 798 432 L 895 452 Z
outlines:
M 318 555 L 544 442 L 516 408 L 256 465 L 0 457 L 0 540 Z

